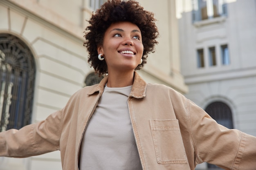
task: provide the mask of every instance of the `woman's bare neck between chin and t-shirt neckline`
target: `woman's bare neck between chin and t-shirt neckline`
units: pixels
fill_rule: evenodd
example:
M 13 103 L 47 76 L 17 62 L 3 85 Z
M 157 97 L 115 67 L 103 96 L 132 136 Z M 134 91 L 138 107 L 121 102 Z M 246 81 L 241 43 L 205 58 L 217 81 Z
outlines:
M 108 73 L 108 87 L 126 87 L 133 84 L 133 76 L 132 72 L 121 72 L 121 73 Z

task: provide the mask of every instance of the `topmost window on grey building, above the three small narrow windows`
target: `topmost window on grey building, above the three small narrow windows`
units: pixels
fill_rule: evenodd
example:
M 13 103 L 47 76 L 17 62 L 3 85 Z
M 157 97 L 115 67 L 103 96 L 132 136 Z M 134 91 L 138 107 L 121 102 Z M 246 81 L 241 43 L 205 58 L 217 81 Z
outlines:
M 192 0 L 192 7 L 193 22 L 227 15 L 226 0 Z

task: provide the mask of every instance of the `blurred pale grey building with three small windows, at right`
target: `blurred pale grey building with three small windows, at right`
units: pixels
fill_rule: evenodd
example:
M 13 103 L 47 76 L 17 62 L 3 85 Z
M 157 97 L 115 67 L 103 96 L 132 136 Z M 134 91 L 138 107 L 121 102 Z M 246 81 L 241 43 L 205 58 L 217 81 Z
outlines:
M 218 123 L 256 136 L 256 0 L 176 2 L 185 96 Z

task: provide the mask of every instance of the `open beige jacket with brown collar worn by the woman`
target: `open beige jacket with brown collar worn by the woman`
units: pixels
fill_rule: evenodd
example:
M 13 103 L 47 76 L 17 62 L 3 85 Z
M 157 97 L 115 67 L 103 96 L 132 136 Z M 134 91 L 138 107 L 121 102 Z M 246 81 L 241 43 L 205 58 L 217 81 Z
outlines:
M 60 150 L 63 170 L 78 170 L 82 136 L 107 79 L 75 93 L 46 120 L 0 133 L 0 156 Z M 135 72 L 128 108 L 143 170 L 194 170 L 204 161 L 256 169 L 256 137 L 220 126 L 172 88 L 146 84 Z

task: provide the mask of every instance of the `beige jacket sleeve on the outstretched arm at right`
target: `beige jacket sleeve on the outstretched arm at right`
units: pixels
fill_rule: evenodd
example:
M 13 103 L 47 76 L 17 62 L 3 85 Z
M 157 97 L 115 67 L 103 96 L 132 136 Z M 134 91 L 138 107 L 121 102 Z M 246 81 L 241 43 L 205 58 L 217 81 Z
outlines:
M 188 109 L 198 163 L 208 162 L 225 170 L 255 170 L 256 137 L 218 124 L 193 102 Z

